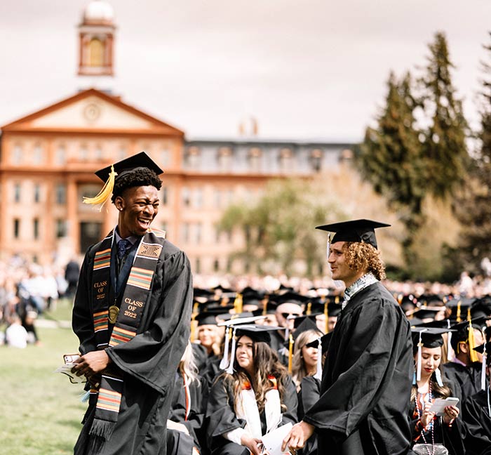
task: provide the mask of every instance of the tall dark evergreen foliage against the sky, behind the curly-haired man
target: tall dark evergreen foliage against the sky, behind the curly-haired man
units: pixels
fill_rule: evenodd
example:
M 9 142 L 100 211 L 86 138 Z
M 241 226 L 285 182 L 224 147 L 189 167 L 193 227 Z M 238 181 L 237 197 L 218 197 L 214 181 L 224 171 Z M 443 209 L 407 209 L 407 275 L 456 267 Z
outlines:
M 426 220 L 424 201 L 457 194 L 469 167 L 467 124 L 443 33 L 436 33 L 429 51 L 417 84 L 409 73 L 400 81 L 391 73 L 377 127 L 367 128 L 357 152 L 361 173 L 405 225 L 408 268 L 417 261 L 414 242 Z

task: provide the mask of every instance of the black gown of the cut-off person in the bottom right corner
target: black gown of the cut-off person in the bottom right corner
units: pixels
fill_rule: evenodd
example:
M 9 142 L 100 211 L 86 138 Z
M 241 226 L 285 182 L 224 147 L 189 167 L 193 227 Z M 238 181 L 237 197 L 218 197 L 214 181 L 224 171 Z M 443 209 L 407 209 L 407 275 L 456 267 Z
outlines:
M 464 401 L 464 445 L 469 455 L 491 454 L 491 417 L 487 409 L 487 390 Z

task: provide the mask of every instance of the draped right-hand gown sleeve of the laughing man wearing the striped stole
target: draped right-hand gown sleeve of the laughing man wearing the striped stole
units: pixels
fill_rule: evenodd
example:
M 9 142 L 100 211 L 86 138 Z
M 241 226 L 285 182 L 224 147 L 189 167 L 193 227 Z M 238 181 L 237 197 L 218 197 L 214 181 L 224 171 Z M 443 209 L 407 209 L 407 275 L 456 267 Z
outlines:
M 193 284 L 187 256 L 173 246 L 157 265 L 147 303 L 147 327 L 128 343 L 106 349 L 111 360 L 126 374 L 165 394 L 174 383 L 175 371 L 189 340 Z M 165 251 L 165 247 L 164 247 Z M 160 261 L 160 260 L 159 260 Z M 158 279 L 157 279 L 158 278 Z

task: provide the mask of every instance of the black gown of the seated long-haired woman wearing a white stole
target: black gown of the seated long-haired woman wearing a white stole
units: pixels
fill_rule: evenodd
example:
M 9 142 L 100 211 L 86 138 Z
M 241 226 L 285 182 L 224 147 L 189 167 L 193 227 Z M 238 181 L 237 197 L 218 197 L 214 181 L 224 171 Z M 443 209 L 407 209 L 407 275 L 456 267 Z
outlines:
M 285 393 L 281 404 L 286 410 L 281 416 L 281 425 L 297 422 L 297 390 L 290 376 L 287 376 Z M 264 414 L 264 413 L 263 413 Z M 208 449 L 212 455 L 241 454 L 245 447 L 225 439 L 222 435 L 236 428 L 244 428 L 245 421 L 238 419 L 235 414 L 234 391 L 231 385 L 219 376 L 210 390 L 206 410 L 206 436 Z M 248 454 L 248 449 L 245 449 Z

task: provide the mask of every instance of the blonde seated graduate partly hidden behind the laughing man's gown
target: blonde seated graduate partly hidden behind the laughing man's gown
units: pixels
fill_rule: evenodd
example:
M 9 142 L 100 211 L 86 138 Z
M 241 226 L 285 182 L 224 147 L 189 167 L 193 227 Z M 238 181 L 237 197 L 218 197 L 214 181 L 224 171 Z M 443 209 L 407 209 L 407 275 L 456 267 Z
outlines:
M 167 420 L 168 455 L 201 453 L 207 400 L 208 384 L 198 374 L 189 342 L 175 374 L 173 399 Z

